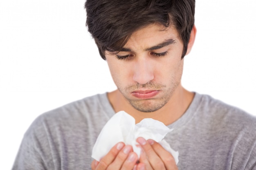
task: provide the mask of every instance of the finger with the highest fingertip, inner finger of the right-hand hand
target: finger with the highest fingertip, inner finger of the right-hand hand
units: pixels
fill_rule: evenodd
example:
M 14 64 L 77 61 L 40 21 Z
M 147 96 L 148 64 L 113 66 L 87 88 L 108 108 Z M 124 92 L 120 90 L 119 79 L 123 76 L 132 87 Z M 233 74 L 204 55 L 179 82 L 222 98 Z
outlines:
M 152 146 L 143 138 L 139 137 L 137 142 L 141 145 L 141 148 L 146 153 L 146 157 L 154 170 L 165 170 L 164 162 L 157 155 Z

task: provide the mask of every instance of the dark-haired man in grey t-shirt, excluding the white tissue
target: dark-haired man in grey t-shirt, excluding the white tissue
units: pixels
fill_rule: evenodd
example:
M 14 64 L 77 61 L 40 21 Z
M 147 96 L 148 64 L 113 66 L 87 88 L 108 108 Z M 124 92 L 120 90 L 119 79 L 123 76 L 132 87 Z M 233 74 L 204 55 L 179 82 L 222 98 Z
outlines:
M 195 40 L 194 0 L 87 0 L 88 31 L 118 90 L 87 97 L 38 117 L 27 130 L 13 170 L 256 170 L 256 118 L 181 85 L 184 56 Z M 116 144 L 99 162 L 92 146 L 120 110 L 162 121 L 165 140 Z

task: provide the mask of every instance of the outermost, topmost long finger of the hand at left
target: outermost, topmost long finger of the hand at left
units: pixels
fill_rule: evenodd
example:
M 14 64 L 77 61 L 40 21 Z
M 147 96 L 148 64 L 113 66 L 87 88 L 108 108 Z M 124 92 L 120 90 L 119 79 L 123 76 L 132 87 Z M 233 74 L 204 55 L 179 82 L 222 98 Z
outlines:
M 118 153 L 122 148 L 124 148 L 125 144 L 123 142 L 117 143 L 111 150 L 108 152 L 106 156 L 104 156 L 100 161 L 96 170 L 106 170 L 110 163 L 112 163 L 117 157 Z

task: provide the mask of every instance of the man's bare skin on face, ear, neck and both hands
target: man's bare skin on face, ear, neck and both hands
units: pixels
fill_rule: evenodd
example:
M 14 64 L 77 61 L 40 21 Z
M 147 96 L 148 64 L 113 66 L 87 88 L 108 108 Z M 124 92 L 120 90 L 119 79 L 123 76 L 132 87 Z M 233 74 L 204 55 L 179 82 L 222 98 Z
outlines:
M 195 40 L 193 27 L 187 53 Z M 153 118 L 169 125 L 179 119 L 191 104 L 194 93 L 181 85 L 183 43 L 173 26 L 146 26 L 132 34 L 124 50 L 106 51 L 106 60 L 117 90 L 108 93 L 115 112 L 124 110 L 135 118 Z M 92 170 L 177 170 L 172 155 L 160 144 L 139 137 L 142 148 L 139 163 L 131 146 L 115 145 Z

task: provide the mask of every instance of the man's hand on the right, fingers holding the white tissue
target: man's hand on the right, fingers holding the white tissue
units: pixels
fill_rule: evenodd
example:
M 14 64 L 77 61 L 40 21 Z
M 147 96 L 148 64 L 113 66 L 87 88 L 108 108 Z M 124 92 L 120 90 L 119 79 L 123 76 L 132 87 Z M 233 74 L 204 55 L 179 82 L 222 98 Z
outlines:
M 141 146 L 141 155 L 136 170 L 178 170 L 170 152 L 152 139 L 147 141 L 139 137 L 137 142 Z

